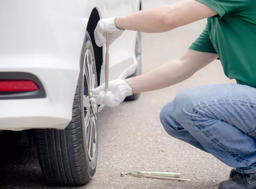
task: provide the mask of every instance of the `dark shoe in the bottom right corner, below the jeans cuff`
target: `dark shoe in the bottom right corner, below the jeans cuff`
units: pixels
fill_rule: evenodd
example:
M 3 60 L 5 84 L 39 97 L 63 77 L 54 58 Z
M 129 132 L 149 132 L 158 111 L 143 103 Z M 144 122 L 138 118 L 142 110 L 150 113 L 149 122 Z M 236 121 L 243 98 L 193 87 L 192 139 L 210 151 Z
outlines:
M 221 181 L 218 189 L 256 189 L 256 173 L 238 173 L 231 180 Z

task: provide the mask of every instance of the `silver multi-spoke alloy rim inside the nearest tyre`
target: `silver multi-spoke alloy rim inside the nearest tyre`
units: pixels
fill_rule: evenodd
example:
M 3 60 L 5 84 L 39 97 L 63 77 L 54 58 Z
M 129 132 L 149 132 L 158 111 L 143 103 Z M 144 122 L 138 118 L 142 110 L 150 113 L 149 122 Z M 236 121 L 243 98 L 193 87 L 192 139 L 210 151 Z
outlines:
M 90 50 L 86 50 L 83 62 L 83 109 L 86 148 L 90 161 L 96 154 L 97 147 L 97 105 L 89 103 L 91 89 L 97 87 L 95 64 Z

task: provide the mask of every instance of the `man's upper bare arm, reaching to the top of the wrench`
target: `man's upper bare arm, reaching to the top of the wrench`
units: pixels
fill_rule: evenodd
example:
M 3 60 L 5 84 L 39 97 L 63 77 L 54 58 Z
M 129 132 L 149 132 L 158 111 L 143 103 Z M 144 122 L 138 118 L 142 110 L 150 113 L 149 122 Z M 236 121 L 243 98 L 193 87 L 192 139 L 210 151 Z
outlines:
M 213 9 L 196 0 L 181 0 L 173 5 L 158 6 L 118 17 L 116 25 L 127 30 L 160 33 L 216 14 Z

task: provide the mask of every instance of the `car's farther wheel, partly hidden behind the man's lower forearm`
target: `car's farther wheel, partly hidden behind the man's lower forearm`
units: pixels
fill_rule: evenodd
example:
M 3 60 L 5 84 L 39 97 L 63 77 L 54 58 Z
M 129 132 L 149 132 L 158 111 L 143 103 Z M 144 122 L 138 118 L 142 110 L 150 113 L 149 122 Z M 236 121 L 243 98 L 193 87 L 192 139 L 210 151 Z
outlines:
M 137 63 L 138 63 L 137 64 L 137 69 L 136 69 L 136 71 L 134 72 L 133 75 L 131 75 L 127 78 L 139 76 L 141 74 L 141 64 L 142 64 L 142 62 L 141 62 L 141 33 L 140 32 L 137 32 L 136 45 L 135 45 L 135 56 L 136 56 Z M 140 96 L 140 93 L 132 94 L 130 96 L 127 96 L 125 98 L 125 101 L 137 100 L 139 96 Z

